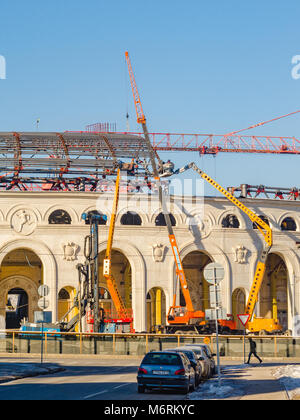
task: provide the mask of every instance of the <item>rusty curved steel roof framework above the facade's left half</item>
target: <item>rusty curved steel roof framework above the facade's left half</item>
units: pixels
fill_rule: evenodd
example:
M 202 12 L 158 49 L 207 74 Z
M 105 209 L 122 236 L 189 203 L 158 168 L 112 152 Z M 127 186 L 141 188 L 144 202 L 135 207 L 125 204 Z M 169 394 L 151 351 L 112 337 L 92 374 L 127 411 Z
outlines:
M 0 189 L 97 191 L 117 169 L 151 175 L 143 137 L 118 133 L 0 133 Z

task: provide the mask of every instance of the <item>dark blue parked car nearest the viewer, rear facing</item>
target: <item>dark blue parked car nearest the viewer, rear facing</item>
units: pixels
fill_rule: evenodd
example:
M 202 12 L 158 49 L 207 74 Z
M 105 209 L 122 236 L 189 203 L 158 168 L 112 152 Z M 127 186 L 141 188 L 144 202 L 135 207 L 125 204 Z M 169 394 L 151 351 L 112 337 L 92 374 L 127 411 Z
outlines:
M 185 354 L 152 351 L 144 357 L 137 375 L 138 392 L 146 389 L 174 389 L 185 394 L 196 386 L 195 370 Z

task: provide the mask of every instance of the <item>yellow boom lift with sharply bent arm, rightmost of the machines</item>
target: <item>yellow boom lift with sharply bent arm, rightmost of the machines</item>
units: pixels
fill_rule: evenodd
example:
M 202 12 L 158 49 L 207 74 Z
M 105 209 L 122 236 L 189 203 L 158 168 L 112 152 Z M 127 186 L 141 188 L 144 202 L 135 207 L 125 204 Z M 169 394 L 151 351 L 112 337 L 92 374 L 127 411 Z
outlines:
M 229 191 L 225 190 L 221 185 L 219 185 L 213 178 L 207 175 L 204 171 L 199 169 L 197 165 L 192 162 L 184 166 L 181 169 L 174 171 L 175 174 L 183 173 L 189 169 L 193 169 L 197 174 L 201 176 L 205 181 L 212 185 L 217 191 L 223 194 L 229 201 L 231 201 L 235 206 L 237 206 L 242 212 L 244 212 L 249 219 L 255 224 L 257 229 L 263 235 L 265 244 L 263 249 L 259 253 L 258 263 L 254 275 L 254 279 L 251 285 L 248 301 L 246 304 L 245 314 L 249 315 L 249 321 L 246 324 L 246 328 L 253 333 L 267 332 L 267 333 L 278 333 L 282 332 L 282 326 L 279 324 L 277 317 L 274 318 L 258 318 L 254 315 L 254 309 L 258 298 L 258 293 L 264 278 L 266 270 L 266 260 L 270 249 L 273 245 L 273 235 L 270 226 L 258 217 L 252 210 L 246 207 L 241 203 L 236 197 L 234 197 Z M 162 176 L 170 176 L 169 173 L 163 174 Z M 274 316 L 274 314 L 273 314 Z

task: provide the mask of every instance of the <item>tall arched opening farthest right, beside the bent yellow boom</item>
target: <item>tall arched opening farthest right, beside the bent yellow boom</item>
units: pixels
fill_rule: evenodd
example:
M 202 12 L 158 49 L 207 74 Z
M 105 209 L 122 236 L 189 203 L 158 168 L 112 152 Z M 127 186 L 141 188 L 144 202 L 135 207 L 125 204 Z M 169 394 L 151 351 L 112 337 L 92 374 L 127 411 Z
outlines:
M 259 293 L 258 315 L 263 318 L 277 318 L 284 331 L 288 328 L 287 276 L 283 258 L 277 254 L 270 254 Z

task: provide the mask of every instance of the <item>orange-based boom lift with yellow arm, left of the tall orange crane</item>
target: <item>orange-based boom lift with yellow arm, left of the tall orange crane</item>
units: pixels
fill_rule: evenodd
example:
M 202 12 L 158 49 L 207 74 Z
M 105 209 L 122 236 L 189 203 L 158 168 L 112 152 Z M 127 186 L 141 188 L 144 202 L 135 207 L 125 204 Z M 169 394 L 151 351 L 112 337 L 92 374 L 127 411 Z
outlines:
M 111 273 L 111 253 L 112 253 L 112 244 L 113 244 L 113 238 L 114 238 L 118 204 L 119 204 L 120 180 L 121 180 L 121 171 L 120 169 L 118 169 L 116 185 L 115 185 L 113 208 L 112 208 L 112 214 L 111 214 L 110 225 L 109 225 L 108 240 L 107 240 L 105 258 L 103 260 L 103 276 L 106 279 L 107 288 L 110 293 L 113 304 L 115 306 L 116 312 L 117 312 L 117 318 L 110 317 L 109 319 L 106 319 L 104 322 L 110 322 L 110 323 L 119 325 L 119 327 L 122 329 L 123 332 L 126 332 L 126 326 L 129 326 L 130 332 L 133 332 L 132 310 L 126 308 L 123 302 L 123 299 L 120 295 L 120 292 L 118 290 L 117 283 Z

